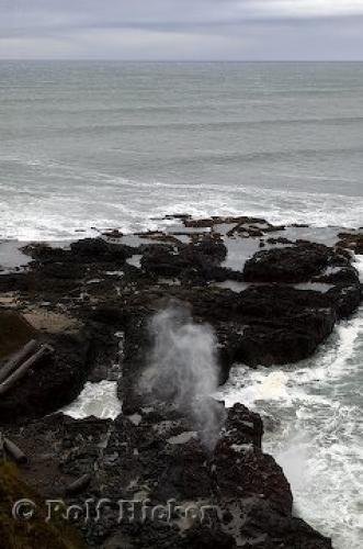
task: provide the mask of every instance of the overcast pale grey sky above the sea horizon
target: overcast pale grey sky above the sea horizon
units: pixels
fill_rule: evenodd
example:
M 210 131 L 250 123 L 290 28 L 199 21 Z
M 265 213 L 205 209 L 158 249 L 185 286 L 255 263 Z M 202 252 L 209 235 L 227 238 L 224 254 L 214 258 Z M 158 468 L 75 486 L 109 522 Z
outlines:
M 0 0 L 0 58 L 363 59 L 363 0 Z

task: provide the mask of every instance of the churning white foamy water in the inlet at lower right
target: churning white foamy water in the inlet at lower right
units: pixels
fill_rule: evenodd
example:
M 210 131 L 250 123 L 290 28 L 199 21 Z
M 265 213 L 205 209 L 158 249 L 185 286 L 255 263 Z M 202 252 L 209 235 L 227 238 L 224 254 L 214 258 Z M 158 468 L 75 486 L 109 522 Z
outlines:
M 277 421 L 264 450 L 283 467 L 295 511 L 332 537 L 334 549 L 361 549 L 363 507 L 363 315 L 340 324 L 299 365 L 232 370 L 219 393 Z

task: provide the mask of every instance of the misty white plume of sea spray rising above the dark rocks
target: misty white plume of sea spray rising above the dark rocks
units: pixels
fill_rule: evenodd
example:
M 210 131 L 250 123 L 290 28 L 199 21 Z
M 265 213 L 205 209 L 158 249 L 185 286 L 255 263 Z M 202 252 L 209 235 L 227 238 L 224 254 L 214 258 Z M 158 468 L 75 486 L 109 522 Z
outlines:
M 193 321 L 185 306 L 172 303 L 149 323 L 152 349 L 140 380 L 143 393 L 172 402 L 194 423 L 212 449 L 225 422 L 225 408 L 211 395 L 219 381 L 217 339 L 207 324 Z

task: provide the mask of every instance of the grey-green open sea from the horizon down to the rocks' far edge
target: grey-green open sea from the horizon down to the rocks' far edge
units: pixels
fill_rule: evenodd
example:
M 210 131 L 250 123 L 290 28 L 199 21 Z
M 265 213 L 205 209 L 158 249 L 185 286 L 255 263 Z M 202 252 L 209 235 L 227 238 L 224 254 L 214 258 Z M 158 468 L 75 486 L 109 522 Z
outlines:
M 0 61 L 0 236 L 362 224 L 363 63 Z

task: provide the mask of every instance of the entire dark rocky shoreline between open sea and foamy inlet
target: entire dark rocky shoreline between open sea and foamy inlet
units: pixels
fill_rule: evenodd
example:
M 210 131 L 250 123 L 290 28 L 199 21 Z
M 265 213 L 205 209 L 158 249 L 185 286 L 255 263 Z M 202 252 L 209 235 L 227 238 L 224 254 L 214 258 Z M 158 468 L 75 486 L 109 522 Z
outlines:
M 0 271 L 2 363 L 32 338 L 54 349 L 0 400 L 1 432 L 29 457 L 22 475 L 44 500 L 107 500 L 101 520 L 84 520 L 83 507 L 71 520 L 87 547 L 329 548 L 293 516 L 288 482 L 263 453 L 258 414 L 213 401 L 205 410 L 220 429 L 206 445 L 195 393 L 180 406 L 169 378 L 147 394 L 139 380 L 155 347 L 150 318 L 170 304 L 211 327 L 220 383 L 240 362 L 310 356 L 361 303 L 353 260 L 362 233 L 246 216 L 168 221 L 165 232 L 30 244 L 25 268 Z M 59 412 L 87 381 L 102 380 L 117 383 L 115 421 Z M 117 522 L 120 500 L 147 501 L 147 509 Z M 150 516 L 170 501 L 194 515 Z

